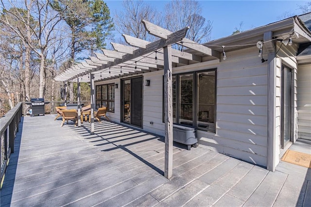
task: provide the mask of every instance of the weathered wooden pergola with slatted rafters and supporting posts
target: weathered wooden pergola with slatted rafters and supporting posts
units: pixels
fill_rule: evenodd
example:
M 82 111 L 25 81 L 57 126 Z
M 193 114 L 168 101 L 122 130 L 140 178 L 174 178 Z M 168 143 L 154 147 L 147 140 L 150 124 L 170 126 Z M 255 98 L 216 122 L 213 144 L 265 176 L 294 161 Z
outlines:
M 129 35 L 123 35 L 130 45 L 111 43 L 115 51 L 104 50 L 95 53 L 86 62 L 74 64 L 71 68 L 55 77 L 56 81 L 73 81 L 78 83 L 78 116 L 80 116 L 80 82 L 90 82 L 91 87 L 91 134 L 94 133 L 95 94 L 94 82 L 117 79 L 164 69 L 164 107 L 165 107 L 165 170 L 164 176 L 170 178 L 173 169 L 173 67 L 194 63 L 219 60 L 220 52 L 185 38 L 189 27 L 177 32 L 170 32 L 146 20 L 142 20 L 149 34 L 159 37 L 148 42 Z M 179 44 L 182 51 L 172 49 Z M 187 48 L 184 51 L 183 48 Z M 66 103 L 66 102 L 65 102 Z M 79 120 L 79 119 L 78 119 Z M 81 126 L 79 120 L 78 126 Z

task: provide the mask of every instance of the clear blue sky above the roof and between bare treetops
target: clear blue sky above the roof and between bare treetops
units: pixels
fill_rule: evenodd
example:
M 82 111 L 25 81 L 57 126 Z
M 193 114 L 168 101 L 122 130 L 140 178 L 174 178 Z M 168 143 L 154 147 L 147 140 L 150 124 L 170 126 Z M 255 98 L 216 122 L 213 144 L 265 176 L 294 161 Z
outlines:
M 310 0 L 309 0 L 310 1 Z M 122 10 L 121 0 L 105 1 L 113 16 L 115 12 Z M 163 11 L 166 0 L 148 0 L 157 11 Z M 202 15 L 213 22 L 211 40 L 231 35 L 235 28 L 239 28 L 243 21 L 242 30 L 249 30 L 279 21 L 286 12 L 298 14 L 297 5 L 303 5 L 308 1 L 300 0 L 200 0 Z

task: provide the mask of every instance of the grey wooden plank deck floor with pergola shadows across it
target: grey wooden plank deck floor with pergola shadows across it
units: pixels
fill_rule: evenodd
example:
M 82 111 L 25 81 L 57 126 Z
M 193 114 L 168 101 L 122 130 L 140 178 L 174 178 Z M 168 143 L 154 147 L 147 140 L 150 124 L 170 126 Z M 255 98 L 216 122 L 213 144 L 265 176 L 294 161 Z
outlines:
M 163 176 L 163 138 L 103 121 L 60 127 L 24 117 L 1 190 L 1 207 L 311 206 L 311 169 L 269 172 L 202 146 L 174 146 Z

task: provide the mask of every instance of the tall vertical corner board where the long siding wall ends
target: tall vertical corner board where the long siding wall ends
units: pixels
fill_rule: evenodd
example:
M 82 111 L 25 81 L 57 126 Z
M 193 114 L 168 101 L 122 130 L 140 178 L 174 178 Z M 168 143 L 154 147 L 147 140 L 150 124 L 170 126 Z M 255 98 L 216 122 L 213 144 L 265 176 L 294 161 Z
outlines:
M 273 32 L 263 34 L 263 41 L 268 52 L 268 120 L 267 120 L 267 170 L 276 169 L 276 46 L 271 41 Z

